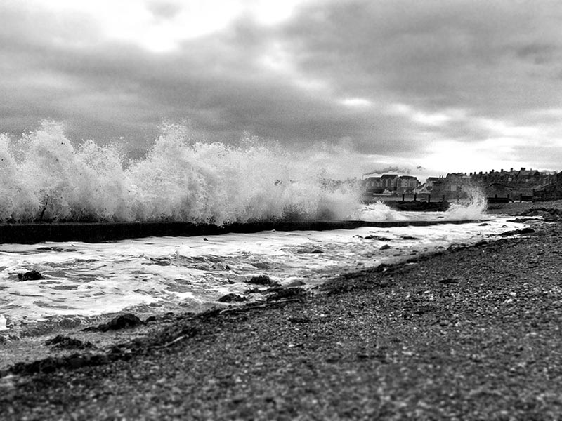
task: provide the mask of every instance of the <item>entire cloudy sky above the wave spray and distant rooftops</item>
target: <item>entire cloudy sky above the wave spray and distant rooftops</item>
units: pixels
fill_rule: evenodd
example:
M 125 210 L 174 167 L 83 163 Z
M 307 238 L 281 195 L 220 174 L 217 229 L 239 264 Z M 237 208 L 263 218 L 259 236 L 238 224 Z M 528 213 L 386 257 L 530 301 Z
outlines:
M 0 16 L 13 136 L 54 119 L 135 153 L 184 121 L 334 147 L 352 177 L 562 170 L 559 1 L 3 0 Z

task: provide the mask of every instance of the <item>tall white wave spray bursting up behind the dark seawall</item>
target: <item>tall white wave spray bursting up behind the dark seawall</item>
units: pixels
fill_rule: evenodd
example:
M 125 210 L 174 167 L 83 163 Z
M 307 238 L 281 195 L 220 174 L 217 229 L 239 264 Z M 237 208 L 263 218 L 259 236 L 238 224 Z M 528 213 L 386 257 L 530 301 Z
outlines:
M 195 142 L 162 127 L 144 159 L 119 148 L 79 146 L 44 121 L 13 140 L 0 135 L 0 222 L 181 221 L 223 225 L 291 218 L 343 219 L 359 206 L 351 183 L 333 185 L 279 145 Z

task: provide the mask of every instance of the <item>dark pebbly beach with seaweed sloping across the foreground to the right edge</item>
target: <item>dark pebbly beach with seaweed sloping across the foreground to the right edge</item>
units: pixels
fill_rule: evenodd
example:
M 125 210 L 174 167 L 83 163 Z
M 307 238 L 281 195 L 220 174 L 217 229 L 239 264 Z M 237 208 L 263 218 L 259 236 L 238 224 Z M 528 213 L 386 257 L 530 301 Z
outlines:
M 562 417 L 560 203 L 535 231 L 337 276 L 314 295 L 0 344 L 5 420 Z M 48 338 L 51 338 L 48 337 Z M 74 340 L 74 341 L 72 341 Z

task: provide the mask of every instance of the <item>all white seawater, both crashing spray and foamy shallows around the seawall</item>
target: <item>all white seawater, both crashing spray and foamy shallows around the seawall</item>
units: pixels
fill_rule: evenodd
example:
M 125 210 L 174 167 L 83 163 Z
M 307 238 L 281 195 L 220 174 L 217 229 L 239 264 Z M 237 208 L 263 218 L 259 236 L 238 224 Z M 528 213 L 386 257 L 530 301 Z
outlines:
M 364 206 L 356 180 L 329 181 L 275 144 L 194 142 L 166 126 L 148 154 L 124 160 L 114 145 L 76 144 L 44 122 L 13 140 L 0 135 L 0 222 L 254 220 L 486 220 L 462 225 L 150 237 L 107 243 L 0 245 L 0 330 L 124 309 L 200 311 L 227 293 L 247 293 L 265 274 L 306 286 L 342 272 L 400 262 L 455 244 L 493 240 L 521 227 L 485 215 L 485 200 L 447 212 Z M 389 248 L 383 248 L 388 245 Z M 383 249 L 381 249 L 383 248 Z M 18 282 L 37 270 L 45 279 Z M 248 294 L 250 300 L 263 299 Z

